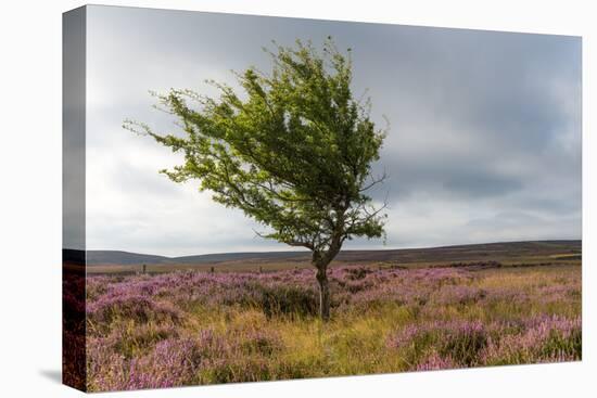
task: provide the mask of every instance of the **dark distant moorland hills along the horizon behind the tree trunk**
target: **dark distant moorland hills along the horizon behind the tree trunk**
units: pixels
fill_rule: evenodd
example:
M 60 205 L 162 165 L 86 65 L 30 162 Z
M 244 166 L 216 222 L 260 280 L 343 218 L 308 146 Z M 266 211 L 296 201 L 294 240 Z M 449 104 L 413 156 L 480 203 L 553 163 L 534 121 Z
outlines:
M 532 241 L 485 243 L 430 248 L 382 251 L 342 251 L 336 261 L 342 262 L 433 262 L 470 261 L 483 259 L 516 259 L 521 257 L 580 254 L 581 241 Z M 118 251 L 88 251 L 87 265 L 206 265 L 223 262 L 305 262 L 308 252 L 223 253 L 183 257 L 165 257 Z

